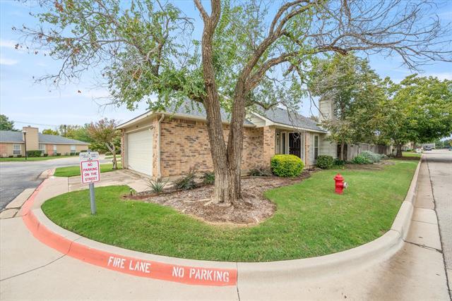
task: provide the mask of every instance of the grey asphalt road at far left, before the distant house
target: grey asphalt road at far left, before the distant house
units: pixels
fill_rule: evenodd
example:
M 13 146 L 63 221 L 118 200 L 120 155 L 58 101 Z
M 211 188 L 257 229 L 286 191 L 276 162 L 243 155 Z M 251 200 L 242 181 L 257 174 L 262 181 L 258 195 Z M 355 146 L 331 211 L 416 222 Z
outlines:
M 108 163 L 111 159 L 102 159 Z M 39 176 L 49 168 L 78 165 L 78 156 L 43 161 L 11 161 L 0 162 L 0 210 L 11 202 L 26 188 L 35 188 L 43 179 Z

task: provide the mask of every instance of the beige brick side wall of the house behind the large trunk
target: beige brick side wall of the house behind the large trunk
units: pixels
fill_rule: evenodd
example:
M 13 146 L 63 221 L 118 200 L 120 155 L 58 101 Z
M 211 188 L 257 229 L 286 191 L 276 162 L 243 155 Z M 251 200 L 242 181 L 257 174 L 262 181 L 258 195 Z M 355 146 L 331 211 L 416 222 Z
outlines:
M 183 119 L 165 119 L 161 128 L 161 169 L 162 176 L 179 176 L 190 168 L 196 171 L 212 171 L 212 157 L 206 123 Z M 155 127 L 157 128 L 157 127 Z M 155 175 L 157 174 L 157 130 L 155 133 Z M 227 140 L 229 129 L 224 125 L 223 135 Z M 273 138 L 274 143 L 274 138 Z M 262 166 L 263 129 L 244 128 L 242 169 Z M 273 147 L 274 151 L 274 147 Z

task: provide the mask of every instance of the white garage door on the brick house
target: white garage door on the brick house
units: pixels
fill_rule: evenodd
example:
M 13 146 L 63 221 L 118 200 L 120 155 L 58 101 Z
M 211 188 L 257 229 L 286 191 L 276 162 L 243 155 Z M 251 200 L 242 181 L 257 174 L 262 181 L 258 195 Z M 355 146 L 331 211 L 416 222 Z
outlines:
M 153 130 L 127 134 L 127 167 L 133 171 L 153 175 Z

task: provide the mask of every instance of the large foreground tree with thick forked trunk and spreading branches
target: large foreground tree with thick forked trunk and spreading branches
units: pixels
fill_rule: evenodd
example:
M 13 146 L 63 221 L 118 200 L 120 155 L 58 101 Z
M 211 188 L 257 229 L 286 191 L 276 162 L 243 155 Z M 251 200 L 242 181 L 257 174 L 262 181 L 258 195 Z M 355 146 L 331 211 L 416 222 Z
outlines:
M 159 0 L 42 0 L 44 13 L 37 13 L 42 24 L 20 31 L 25 44 L 61 61 L 57 74 L 41 80 L 59 85 L 100 70 L 114 104 L 134 109 L 146 102 L 161 110 L 191 99 L 204 106 L 214 203 L 242 198 L 246 110 L 297 107 L 306 94 L 311 59 L 348 51 L 396 53 L 410 66 L 450 59 L 449 45 L 441 40 L 448 28 L 424 13 L 431 9 L 428 0 L 210 0 L 208 8 L 194 0 L 194 5 L 198 23 L 196 16 Z M 201 40 L 194 35 L 200 23 Z M 231 113 L 226 141 L 221 106 Z

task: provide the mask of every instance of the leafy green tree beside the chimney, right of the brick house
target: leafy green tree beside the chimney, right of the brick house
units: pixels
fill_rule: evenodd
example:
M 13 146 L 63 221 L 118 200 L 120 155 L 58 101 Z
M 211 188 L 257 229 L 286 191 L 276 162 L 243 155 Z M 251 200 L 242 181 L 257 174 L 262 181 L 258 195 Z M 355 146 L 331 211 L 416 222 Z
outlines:
M 340 159 L 345 158 L 346 144 L 374 140 L 373 115 L 385 94 L 367 60 L 336 54 L 314 61 L 309 90 L 333 106 L 333 116 L 323 116 L 322 125 L 328 138 L 340 144 Z

